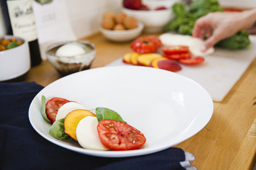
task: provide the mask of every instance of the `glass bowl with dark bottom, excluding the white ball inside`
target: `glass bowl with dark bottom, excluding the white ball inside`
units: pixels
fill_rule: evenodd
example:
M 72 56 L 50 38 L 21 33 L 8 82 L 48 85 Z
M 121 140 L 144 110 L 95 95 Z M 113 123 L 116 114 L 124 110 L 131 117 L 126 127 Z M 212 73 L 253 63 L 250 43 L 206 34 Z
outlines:
M 59 47 L 70 42 L 85 45 L 85 47 L 90 51 L 82 55 L 74 55 L 68 57 L 60 57 L 55 55 Z M 95 59 L 95 55 L 95 45 L 85 40 L 56 42 L 53 45 L 50 45 L 46 48 L 46 57 L 50 64 L 52 64 L 53 67 L 60 74 L 60 76 L 66 76 L 68 74 L 80 72 L 85 69 L 90 69 L 90 65 L 92 64 L 92 61 Z

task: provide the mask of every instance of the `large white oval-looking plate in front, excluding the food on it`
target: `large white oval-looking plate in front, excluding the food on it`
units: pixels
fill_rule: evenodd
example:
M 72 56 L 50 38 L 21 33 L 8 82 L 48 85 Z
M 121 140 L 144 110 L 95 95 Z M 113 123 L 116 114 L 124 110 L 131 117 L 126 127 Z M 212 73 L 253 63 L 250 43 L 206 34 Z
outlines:
M 76 101 L 87 109 L 117 111 L 142 131 L 146 144 L 131 151 L 83 149 L 78 142 L 48 135 L 50 124 L 41 115 L 41 96 Z M 98 157 L 132 157 L 172 147 L 199 132 L 213 114 L 213 101 L 195 81 L 151 67 L 117 66 L 89 69 L 58 79 L 40 91 L 28 111 L 33 128 L 60 147 Z

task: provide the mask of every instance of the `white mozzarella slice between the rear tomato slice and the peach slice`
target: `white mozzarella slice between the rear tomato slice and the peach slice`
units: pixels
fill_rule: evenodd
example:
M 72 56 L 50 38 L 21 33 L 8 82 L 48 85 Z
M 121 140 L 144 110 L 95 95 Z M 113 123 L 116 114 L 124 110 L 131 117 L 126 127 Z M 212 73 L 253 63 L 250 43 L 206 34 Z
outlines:
M 75 103 L 73 101 L 65 103 L 65 104 L 63 104 L 63 106 L 61 106 L 59 108 L 55 120 L 65 118 L 65 116 L 68 115 L 68 113 L 78 110 L 78 109 L 85 109 L 85 107 L 80 105 L 79 103 Z

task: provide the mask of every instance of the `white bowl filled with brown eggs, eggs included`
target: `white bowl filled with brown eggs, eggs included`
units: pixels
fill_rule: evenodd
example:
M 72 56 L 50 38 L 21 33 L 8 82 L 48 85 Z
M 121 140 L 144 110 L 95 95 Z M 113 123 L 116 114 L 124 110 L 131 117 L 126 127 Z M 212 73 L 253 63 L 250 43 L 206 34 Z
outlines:
M 113 42 L 128 42 L 141 35 L 144 24 L 125 13 L 107 12 L 102 17 L 101 33 Z

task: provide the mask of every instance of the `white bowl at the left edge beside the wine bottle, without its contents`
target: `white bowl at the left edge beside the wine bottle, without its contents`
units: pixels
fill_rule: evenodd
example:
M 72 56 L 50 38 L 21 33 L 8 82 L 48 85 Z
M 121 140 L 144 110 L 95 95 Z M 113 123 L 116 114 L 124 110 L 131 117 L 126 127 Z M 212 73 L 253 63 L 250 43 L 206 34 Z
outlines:
M 0 81 L 19 81 L 31 68 L 28 42 L 23 38 L 5 35 L 4 39 L 16 38 L 22 45 L 9 50 L 0 51 Z

